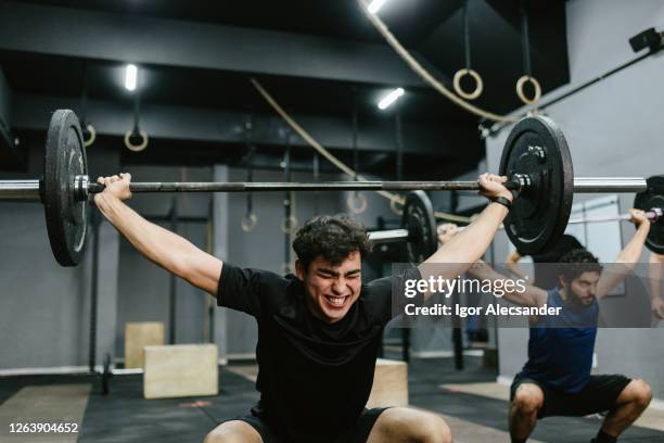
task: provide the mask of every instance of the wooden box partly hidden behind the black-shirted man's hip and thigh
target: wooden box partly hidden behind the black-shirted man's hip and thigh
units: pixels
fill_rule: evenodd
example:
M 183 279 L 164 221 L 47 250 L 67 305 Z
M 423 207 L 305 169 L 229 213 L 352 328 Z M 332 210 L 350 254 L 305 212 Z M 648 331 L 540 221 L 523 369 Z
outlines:
M 408 364 L 379 358 L 367 407 L 408 406 Z

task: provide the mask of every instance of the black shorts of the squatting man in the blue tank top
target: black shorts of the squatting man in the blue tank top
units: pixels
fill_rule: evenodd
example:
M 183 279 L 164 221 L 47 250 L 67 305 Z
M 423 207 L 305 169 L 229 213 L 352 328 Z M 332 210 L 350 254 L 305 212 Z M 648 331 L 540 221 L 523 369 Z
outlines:
M 550 416 L 583 417 L 589 414 L 612 410 L 621 392 L 629 384 L 631 379 L 625 376 L 590 376 L 584 389 L 576 394 L 570 394 L 533 380 L 523 374 L 514 377 L 510 389 L 510 401 L 514 398 L 516 389 L 523 383 L 537 384 L 544 392 L 544 406 L 539 409 L 537 418 Z

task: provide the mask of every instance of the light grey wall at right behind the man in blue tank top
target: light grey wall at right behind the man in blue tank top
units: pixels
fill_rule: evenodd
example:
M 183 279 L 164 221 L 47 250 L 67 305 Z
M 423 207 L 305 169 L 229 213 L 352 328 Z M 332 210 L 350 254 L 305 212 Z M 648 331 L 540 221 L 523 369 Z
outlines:
M 566 4 L 572 83 L 550 98 L 634 59 L 628 38 L 664 22 L 664 5 L 659 0 L 640 1 L 638 8 L 620 0 L 575 0 Z M 664 102 L 663 71 L 664 56 L 660 53 L 546 110 L 565 134 L 577 176 L 648 177 L 664 173 L 662 115 L 655 111 Z M 498 169 L 508 132 L 509 128 L 487 140 L 489 170 Z M 576 195 L 575 202 L 583 199 Z M 627 212 L 633 202 L 634 194 L 621 194 L 621 212 Z M 623 241 L 633 235 L 634 227 L 622 224 Z M 495 244 L 496 256 L 502 260 L 508 252 L 506 237 L 499 233 Z M 649 254 L 646 250 L 641 261 L 648 261 Z M 641 377 L 651 383 L 655 397 L 664 398 L 663 339 L 664 321 L 657 329 L 600 329 L 595 370 Z M 511 379 L 525 362 L 527 330 L 501 329 L 498 342 L 500 376 Z

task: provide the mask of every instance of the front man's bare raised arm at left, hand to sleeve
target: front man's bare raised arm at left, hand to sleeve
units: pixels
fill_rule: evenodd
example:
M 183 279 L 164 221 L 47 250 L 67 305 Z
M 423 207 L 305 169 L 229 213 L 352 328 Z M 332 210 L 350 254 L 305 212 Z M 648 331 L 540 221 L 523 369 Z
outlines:
M 221 261 L 184 238 L 148 221 L 127 206 L 124 200 L 131 198 L 130 181 L 129 174 L 100 177 L 98 182 L 104 185 L 105 189 L 94 195 L 97 207 L 148 260 L 216 296 Z

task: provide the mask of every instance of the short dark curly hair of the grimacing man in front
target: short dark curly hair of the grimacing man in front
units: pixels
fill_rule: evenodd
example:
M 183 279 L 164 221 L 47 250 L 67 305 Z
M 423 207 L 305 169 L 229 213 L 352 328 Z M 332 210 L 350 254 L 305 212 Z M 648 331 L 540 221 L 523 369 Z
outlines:
M 310 218 L 295 233 L 293 250 L 305 271 L 319 255 L 331 265 L 340 265 L 353 252 L 363 258 L 371 252 L 367 228 L 357 219 L 346 215 L 319 215 Z

